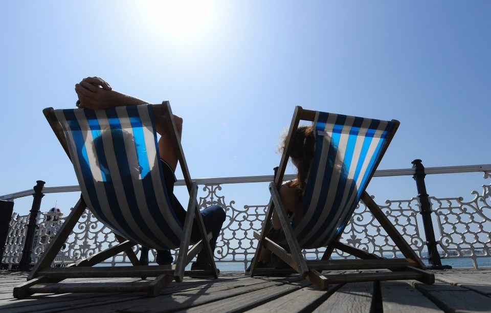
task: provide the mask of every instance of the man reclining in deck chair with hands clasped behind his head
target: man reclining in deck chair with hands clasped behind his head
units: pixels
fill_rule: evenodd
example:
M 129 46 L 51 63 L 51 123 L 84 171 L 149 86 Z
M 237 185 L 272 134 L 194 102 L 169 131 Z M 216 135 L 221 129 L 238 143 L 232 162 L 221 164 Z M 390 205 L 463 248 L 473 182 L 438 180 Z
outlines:
M 77 93 L 79 101 L 77 106 L 91 108 L 91 109 L 106 109 L 114 106 L 133 105 L 133 104 L 148 104 L 144 100 L 140 100 L 135 97 L 121 94 L 112 90 L 110 85 L 99 77 L 87 77 L 80 83 L 75 85 L 75 92 Z M 183 131 L 183 119 L 176 115 L 173 116 L 174 123 L 177 127 L 178 138 L 182 137 Z M 167 131 L 167 126 L 162 120 L 156 121 L 157 132 L 161 135 L 159 139 L 159 153 L 162 162 L 162 169 L 164 172 L 165 185 L 167 187 L 167 193 L 172 195 L 173 204 L 172 208 L 177 218 L 184 225 L 186 219 L 186 211 L 181 203 L 177 200 L 174 191 L 174 183 L 176 178 L 174 175 L 175 168 L 177 166 L 177 155 L 173 148 L 172 140 Z M 113 135 L 114 136 L 114 135 Z M 210 206 L 201 211 L 203 216 L 203 222 L 207 232 L 212 233 L 210 240 L 211 251 L 215 250 L 216 240 L 220 233 L 221 227 L 225 221 L 226 214 L 224 209 L 218 205 Z M 191 238 L 194 241 L 199 240 L 199 230 L 196 223 L 193 223 L 193 231 Z M 173 261 L 172 255 L 169 250 L 157 251 L 156 260 L 158 264 L 171 264 Z M 191 264 L 191 270 L 207 270 L 210 269 L 205 249 L 199 252 L 196 262 Z

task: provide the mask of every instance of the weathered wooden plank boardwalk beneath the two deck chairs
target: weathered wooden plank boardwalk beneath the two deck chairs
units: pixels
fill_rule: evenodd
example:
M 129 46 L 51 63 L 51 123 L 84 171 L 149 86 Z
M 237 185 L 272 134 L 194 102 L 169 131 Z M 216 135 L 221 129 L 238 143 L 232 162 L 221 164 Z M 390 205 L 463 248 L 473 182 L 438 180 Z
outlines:
M 296 276 L 251 278 L 222 272 L 217 280 L 185 278 L 163 295 L 87 293 L 12 297 L 27 274 L 0 272 L 0 311 L 6 312 L 491 312 L 491 269 L 434 271 L 436 282 L 348 283 L 322 291 Z M 78 279 L 81 281 L 87 279 Z M 128 282 L 138 279 L 91 279 Z M 66 283 L 75 280 L 66 280 Z

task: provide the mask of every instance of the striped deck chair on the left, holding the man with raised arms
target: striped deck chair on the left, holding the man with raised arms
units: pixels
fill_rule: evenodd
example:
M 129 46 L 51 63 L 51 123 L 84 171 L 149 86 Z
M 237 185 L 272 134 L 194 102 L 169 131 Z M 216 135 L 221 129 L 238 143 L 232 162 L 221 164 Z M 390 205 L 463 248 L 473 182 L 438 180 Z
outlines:
M 34 266 L 28 282 L 14 288 L 14 297 L 72 292 L 147 292 L 155 296 L 173 280 L 181 282 L 184 275 L 218 277 L 209 244 L 211 233 L 206 233 L 198 209 L 197 185 L 191 181 L 168 101 L 106 110 L 46 108 L 43 113 L 73 163 L 81 197 Z M 155 134 L 157 117 L 168 126 L 189 191 L 184 225 L 172 209 L 172 195 L 166 192 Z M 114 232 L 119 244 L 69 266 L 51 268 L 85 208 Z M 189 248 L 194 219 L 201 240 Z M 131 249 L 136 244 L 157 250 L 179 248 L 178 256 L 172 265 L 141 265 Z M 201 249 L 206 250 L 211 269 L 185 272 Z M 133 266 L 91 267 L 121 252 Z M 112 284 L 59 283 L 82 277 L 156 278 Z

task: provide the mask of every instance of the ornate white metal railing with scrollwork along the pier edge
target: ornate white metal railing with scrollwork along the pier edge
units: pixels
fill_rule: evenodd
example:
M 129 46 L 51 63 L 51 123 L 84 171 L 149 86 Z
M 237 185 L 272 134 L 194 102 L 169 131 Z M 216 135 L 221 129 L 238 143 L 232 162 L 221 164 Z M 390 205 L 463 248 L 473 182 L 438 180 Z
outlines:
M 491 165 L 457 166 L 426 168 L 427 174 L 457 173 L 457 172 L 484 172 L 484 178 L 491 178 Z M 382 170 L 375 176 L 415 175 L 413 169 Z M 285 175 L 285 179 L 293 175 Z M 222 185 L 238 183 L 265 183 L 273 180 L 273 176 L 249 176 L 249 177 L 222 177 L 197 180 L 200 188 L 199 206 L 201 208 L 219 204 L 227 212 L 224 228 L 217 240 L 215 259 L 217 262 L 238 262 L 244 268 L 254 255 L 257 241 L 253 237 L 254 230 L 261 229 L 267 205 L 245 205 L 238 208 L 235 202 L 221 195 Z M 179 181 L 176 185 L 183 185 Z M 443 259 L 469 258 L 475 268 L 478 268 L 479 258 L 491 255 L 491 183 L 482 186 L 481 193 L 473 191 L 474 199 L 464 202 L 462 197 L 436 198 L 429 197 L 432 211 L 436 218 L 433 219 L 435 237 L 438 252 Z M 43 188 L 43 193 L 77 191 L 78 186 Z M 31 195 L 33 190 L 26 190 L 15 194 L 5 195 L 0 199 L 14 199 Z M 420 196 L 420 195 L 419 195 Z M 420 197 L 403 200 L 386 200 L 385 204 L 378 204 L 387 217 L 392 221 L 396 229 L 403 235 L 412 249 L 422 258 L 428 259 L 426 252 L 425 233 L 422 231 L 422 218 L 420 213 Z M 37 215 L 34 242 L 32 244 L 32 262 L 37 261 L 46 249 L 50 239 L 59 230 L 65 217 L 60 213 L 42 213 Z M 24 238 L 27 233 L 29 216 L 13 214 L 5 252 L 2 259 L 4 266 L 9 269 L 20 262 L 24 249 Z M 354 245 L 384 257 L 396 257 L 400 255 L 396 245 L 387 233 L 372 216 L 367 207 L 361 203 L 355 210 L 346 227 L 341 241 Z M 117 244 L 114 234 L 102 223 L 98 222 L 93 214 L 85 211 L 80 218 L 77 227 L 73 230 L 69 239 L 58 254 L 55 265 L 72 263 L 78 259 L 88 257 L 93 253 L 104 250 Z M 428 245 L 428 247 L 430 247 Z M 139 253 L 139 247 L 133 249 Z M 306 250 L 304 254 L 308 258 L 322 257 L 323 249 Z M 151 251 L 149 259 L 154 261 L 155 251 Z M 334 258 L 348 258 L 349 256 L 334 251 Z M 103 264 L 130 263 L 124 253 L 110 258 Z

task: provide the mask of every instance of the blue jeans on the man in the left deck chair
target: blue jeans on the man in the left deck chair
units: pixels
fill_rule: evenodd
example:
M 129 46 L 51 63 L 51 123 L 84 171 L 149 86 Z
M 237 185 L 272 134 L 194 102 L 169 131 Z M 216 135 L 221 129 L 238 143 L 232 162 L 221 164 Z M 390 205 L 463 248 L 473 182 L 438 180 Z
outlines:
M 210 247 L 211 252 L 215 251 L 216 239 L 218 239 L 218 235 L 220 234 L 221 227 L 224 224 L 226 214 L 224 209 L 218 205 L 214 205 L 208 207 L 201 211 L 201 215 L 203 216 L 203 223 L 205 224 L 206 232 L 211 232 L 210 239 Z M 184 221 L 182 221 L 184 223 Z M 201 239 L 199 235 L 199 228 L 196 224 L 196 220 L 193 221 L 193 229 L 191 232 L 191 240 L 197 242 Z M 173 261 L 172 255 L 169 250 L 159 250 L 157 251 L 157 263 L 159 264 L 170 264 Z M 196 257 L 196 263 L 198 265 L 206 265 L 208 264 L 208 258 L 206 256 L 205 249 L 199 251 L 198 256 Z

